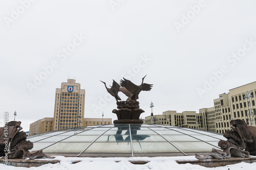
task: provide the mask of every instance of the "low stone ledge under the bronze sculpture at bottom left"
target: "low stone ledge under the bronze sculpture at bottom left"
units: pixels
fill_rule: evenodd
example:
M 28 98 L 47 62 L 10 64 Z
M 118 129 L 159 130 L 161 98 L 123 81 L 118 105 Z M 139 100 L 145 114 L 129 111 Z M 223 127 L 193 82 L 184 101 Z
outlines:
M 0 159 L 0 163 L 6 164 L 5 159 Z M 42 159 L 35 159 L 35 160 L 30 160 L 30 159 L 8 159 L 8 162 L 6 165 L 11 165 L 11 166 L 17 166 L 17 167 L 38 167 L 41 165 L 45 165 L 48 163 L 59 163 L 59 160 L 42 160 Z

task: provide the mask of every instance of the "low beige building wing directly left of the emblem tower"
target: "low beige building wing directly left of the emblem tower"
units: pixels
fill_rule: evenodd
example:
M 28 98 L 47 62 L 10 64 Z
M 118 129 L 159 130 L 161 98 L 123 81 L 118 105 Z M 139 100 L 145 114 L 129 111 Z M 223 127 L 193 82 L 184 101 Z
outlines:
M 29 126 L 29 136 L 53 131 L 53 117 L 45 117 Z

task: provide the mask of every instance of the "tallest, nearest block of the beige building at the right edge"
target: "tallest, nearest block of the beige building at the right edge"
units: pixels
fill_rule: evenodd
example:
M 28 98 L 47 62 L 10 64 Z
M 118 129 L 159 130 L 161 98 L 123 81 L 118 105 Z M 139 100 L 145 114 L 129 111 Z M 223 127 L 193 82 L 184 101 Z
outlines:
M 249 101 L 244 98 L 247 90 L 252 95 Z M 231 119 L 242 119 L 247 125 L 251 125 L 249 102 L 253 115 L 253 126 L 255 126 L 254 95 L 256 95 L 256 82 L 230 89 L 229 93 L 220 94 L 219 98 L 214 100 L 214 107 L 200 109 L 199 112 L 207 117 L 209 131 L 224 133 L 226 130 L 230 130 Z

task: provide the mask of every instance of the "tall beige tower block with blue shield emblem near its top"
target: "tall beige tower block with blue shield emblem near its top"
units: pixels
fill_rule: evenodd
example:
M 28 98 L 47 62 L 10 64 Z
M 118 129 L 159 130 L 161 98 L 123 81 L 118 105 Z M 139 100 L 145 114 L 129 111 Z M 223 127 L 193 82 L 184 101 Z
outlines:
M 86 91 L 74 79 L 61 83 L 61 88 L 55 93 L 54 130 L 83 125 L 85 94 Z

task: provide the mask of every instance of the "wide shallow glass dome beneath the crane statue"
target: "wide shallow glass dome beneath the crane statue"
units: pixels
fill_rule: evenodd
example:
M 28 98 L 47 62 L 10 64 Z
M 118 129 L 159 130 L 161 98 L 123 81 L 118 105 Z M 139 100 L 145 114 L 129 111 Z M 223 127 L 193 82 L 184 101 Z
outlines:
M 184 156 L 208 153 L 222 134 L 182 127 L 112 124 L 28 136 L 31 151 L 77 157 Z

